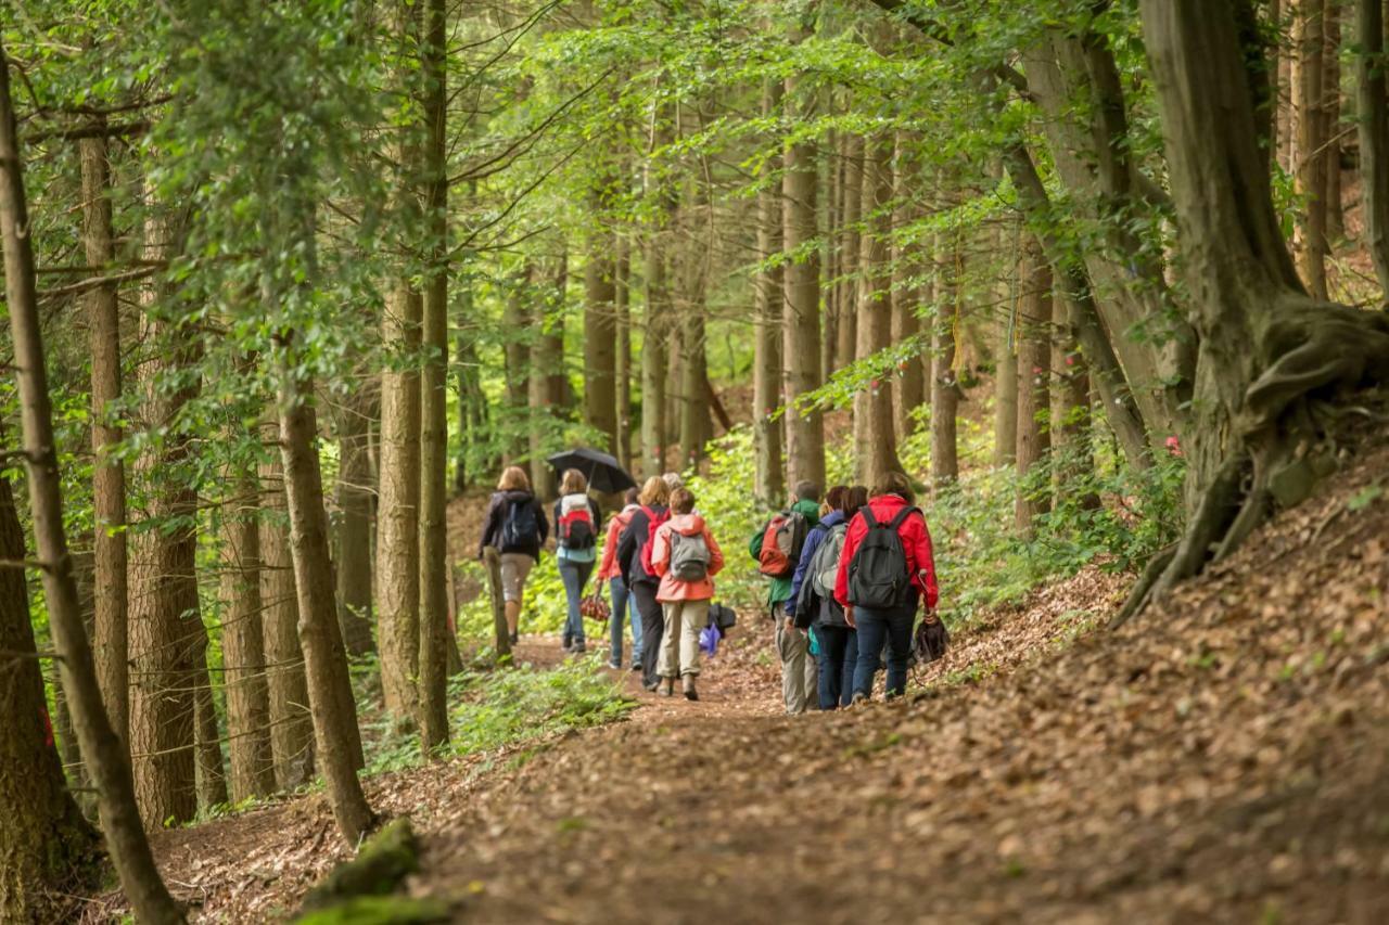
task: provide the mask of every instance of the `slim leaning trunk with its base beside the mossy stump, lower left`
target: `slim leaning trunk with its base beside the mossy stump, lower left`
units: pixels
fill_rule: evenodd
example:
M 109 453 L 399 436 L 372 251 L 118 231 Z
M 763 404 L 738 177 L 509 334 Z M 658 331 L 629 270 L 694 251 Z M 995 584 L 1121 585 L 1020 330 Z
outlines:
M 311 383 L 293 372 L 293 343 L 286 344 L 279 369 L 279 443 L 285 468 L 285 506 L 289 510 L 294 586 L 299 589 L 299 643 L 308 676 L 308 708 L 314 744 L 338 831 L 356 847 L 375 825 L 357 779 L 360 750 L 357 714 L 347 676 L 347 650 L 338 632 L 332 562 L 328 556 L 328 517 L 318 469 Z M 346 690 L 346 697 L 343 696 Z

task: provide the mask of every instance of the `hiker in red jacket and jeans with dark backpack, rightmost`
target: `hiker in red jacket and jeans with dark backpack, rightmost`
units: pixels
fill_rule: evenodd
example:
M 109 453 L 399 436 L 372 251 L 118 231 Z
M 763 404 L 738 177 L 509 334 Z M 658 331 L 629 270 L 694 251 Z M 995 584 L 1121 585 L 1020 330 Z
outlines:
M 845 608 L 849 625 L 858 629 L 853 703 L 872 696 L 883 640 L 888 646 L 888 697 L 906 693 L 917 604 L 924 599 L 926 612 L 936 607 L 931 532 L 913 500 L 907 476 L 889 472 L 845 533 L 835 600 Z

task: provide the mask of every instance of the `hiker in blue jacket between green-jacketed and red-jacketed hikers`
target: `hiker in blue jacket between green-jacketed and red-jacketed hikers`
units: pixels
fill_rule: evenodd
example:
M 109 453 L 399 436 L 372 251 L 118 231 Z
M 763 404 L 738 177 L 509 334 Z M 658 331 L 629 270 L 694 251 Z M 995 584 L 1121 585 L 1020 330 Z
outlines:
M 836 485 L 825 493 L 825 512 L 820 524 L 806 535 L 806 547 L 796 564 L 790 599 L 786 601 L 789 628 L 815 633 L 821 710 L 847 706 L 853 693 L 857 633 L 845 619 L 845 608 L 835 600 L 835 578 L 839 574 L 849 517 L 867 500 L 867 489 L 860 489 L 856 497 L 846 485 Z

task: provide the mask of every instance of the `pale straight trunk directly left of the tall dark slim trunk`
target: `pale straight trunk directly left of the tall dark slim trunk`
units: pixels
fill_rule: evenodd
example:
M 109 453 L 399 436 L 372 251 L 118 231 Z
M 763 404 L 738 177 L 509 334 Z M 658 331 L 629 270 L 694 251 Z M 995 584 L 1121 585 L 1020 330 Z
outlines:
M 382 343 L 408 357 L 419 350 L 424 300 L 401 281 L 386 303 Z M 376 507 L 376 644 L 381 688 L 396 722 L 418 708 L 419 671 L 419 372 L 381 374 L 381 469 Z

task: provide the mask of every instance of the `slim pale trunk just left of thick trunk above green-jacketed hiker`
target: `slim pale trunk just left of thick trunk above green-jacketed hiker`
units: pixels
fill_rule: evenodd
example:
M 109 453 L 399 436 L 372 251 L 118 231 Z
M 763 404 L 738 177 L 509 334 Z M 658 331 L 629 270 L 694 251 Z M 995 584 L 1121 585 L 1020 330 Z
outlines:
M 782 85 L 763 82 L 763 118 L 781 112 Z M 763 179 L 775 176 L 779 158 L 770 158 Z M 782 246 L 781 189 L 768 186 L 757 193 L 757 258 L 771 260 Z M 782 267 L 763 267 L 753 283 L 753 493 L 764 506 L 781 503 L 786 494 L 782 475 Z M 831 317 L 826 312 L 826 318 Z

